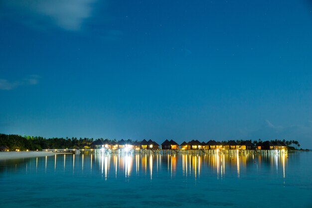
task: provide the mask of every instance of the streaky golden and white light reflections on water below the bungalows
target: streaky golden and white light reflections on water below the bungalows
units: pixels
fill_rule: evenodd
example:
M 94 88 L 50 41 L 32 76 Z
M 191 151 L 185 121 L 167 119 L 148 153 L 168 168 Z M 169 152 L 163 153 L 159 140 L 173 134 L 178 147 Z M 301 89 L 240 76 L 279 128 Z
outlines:
M 201 176 L 201 172 L 214 172 L 217 179 L 226 176 L 227 172 L 233 176 L 240 178 L 240 170 L 246 170 L 248 166 L 253 167 L 256 171 L 260 171 L 262 166 L 270 167 L 275 173 L 283 172 L 283 178 L 287 176 L 287 155 L 121 155 L 121 154 L 81 154 L 81 155 L 55 155 L 53 156 L 53 164 L 50 157 L 25 159 L 23 163 L 16 164 L 15 169 L 23 169 L 25 173 L 29 170 L 28 164 L 35 160 L 35 171 L 40 171 L 40 163 L 44 160 L 44 171 L 49 171 L 53 165 L 53 171 L 59 171 L 62 167 L 63 172 L 69 170 L 72 174 L 84 173 L 101 173 L 107 180 L 110 177 L 131 178 L 133 175 L 149 176 L 153 180 L 153 175 L 159 171 L 167 171 L 170 178 L 176 173 L 181 173 L 182 176 L 191 176 L 194 179 Z M 39 164 L 38 164 L 39 161 Z M 62 165 L 62 166 L 60 166 Z M 39 167 L 38 167 L 39 166 Z M 141 167 L 141 168 L 140 168 Z M 113 173 L 114 172 L 114 173 Z

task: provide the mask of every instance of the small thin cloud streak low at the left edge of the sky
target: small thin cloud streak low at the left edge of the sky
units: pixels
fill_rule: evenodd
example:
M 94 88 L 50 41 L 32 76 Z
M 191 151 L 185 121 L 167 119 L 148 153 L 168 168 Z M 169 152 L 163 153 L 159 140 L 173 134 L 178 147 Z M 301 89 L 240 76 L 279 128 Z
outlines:
M 39 83 L 40 76 L 30 75 L 21 80 L 9 81 L 7 79 L 0 79 L 0 90 L 12 90 L 20 86 L 36 85 Z

